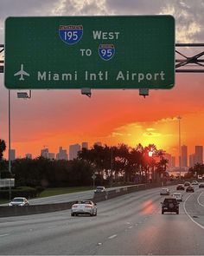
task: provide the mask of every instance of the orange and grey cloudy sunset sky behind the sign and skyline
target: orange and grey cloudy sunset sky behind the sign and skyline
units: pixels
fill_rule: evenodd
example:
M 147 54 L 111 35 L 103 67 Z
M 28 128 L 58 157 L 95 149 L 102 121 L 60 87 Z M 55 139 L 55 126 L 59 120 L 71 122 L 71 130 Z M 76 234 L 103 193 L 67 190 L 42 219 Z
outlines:
M 41 8 L 26 0 L 17 2 L 17 6 L 15 1 L 0 3 L 0 43 L 4 40 L 4 19 L 21 16 L 22 3 L 26 3 L 27 16 L 170 14 L 175 16 L 176 43 L 204 43 L 201 1 L 41 1 Z M 188 56 L 201 51 L 203 48 L 184 49 Z M 82 141 L 87 141 L 89 147 L 96 141 L 131 147 L 154 143 L 178 158 L 178 115 L 182 117 L 182 145 L 193 154 L 195 145 L 204 146 L 203 73 L 176 73 L 174 89 L 150 90 L 145 99 L 137 89 L 93 89 L 91 98 L 77 89 L 33 90 L 30 100 L 17 99 L 16 90 L 12 90 L 11 148 L 16 149 L 18 157 L 27 153 L 36 157 L 44 146 L 49 152 L 57 153 L 60 146 L 68 152 L 69 145 Z M 0 138 L 8 145 L 8 90 L 3 85 L 3 74 Z

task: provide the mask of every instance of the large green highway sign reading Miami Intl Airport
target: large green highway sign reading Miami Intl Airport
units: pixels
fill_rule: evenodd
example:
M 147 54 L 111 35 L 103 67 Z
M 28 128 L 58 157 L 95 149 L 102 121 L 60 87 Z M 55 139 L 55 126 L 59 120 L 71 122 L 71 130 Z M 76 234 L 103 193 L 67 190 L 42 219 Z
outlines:
M 171 89 L 173 16 L 30 16 L 5 21 L 7 89 Z

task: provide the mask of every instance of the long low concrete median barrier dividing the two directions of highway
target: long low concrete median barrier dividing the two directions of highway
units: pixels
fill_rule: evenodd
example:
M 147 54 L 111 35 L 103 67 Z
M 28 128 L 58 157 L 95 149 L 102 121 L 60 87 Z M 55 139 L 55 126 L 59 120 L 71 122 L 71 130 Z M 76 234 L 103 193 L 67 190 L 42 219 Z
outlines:
M 178 183 L 178 182 L 177 182 Z M 165 186 L 175 185 L 177 183 L 169 183 Z M 146 183 L 133 185 L 129 187 L 113 188 L 105 193 L 94 194 L 92 199 L 93 202 L 97 203 L 103 200 L 111 200 L 112 198 L 124 195 L 131 194 L 140 190 L 150 189 L 154 187 L 162 187 L 161 184 L 155 183 Z M 46 205 L 31 205 L 25 207 L 0 207 L 0 217 L 10 217 L 10 216 L 19 216 L 19 215 L 28 215 L 28 214 L 37 214 L 37 213 L 50 213 L 56 211 L 63 211 L 70 209 L 75 201 L 66 202 L 66 203 L 56 203 L 56 204 L 46 204 Z

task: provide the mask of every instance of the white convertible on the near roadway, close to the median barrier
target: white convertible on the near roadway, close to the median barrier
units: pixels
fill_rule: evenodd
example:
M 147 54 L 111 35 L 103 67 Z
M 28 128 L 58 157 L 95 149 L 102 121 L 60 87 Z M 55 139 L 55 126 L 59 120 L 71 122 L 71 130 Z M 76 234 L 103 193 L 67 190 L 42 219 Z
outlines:
M 93 203 L 91 200 L 77 201 L 72 206 L 71 216 L 78 216 L 79 214 L 89 214 L 90 216 L 96 216 L 96 203 Z

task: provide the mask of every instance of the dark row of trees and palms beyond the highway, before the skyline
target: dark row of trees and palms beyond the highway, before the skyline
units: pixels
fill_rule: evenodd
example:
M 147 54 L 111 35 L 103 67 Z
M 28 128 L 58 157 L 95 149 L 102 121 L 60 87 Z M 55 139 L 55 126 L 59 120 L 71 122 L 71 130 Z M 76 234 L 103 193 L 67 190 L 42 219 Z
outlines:
M 3 153 L 6 147 L 2 141 L 0 152 Z M 90 149 L 82 148 L 72 161 L 49 160 L 41 156 L 16 159 L 12 161 L 11 174 L 8 172 L 8 161 L 3 160 L 2 154 L 0 177 L 14 177 L 16 186 L 91 186 L 93 177 L 96 185 L 112 186 L 113 183 L 165 181 L 167 167 L 168 160 L 163 150 L 157 149 L 154 144 L 148 147 L 138 144 L 135 148 L 125 144 L 112 147 L 94 145 Z

